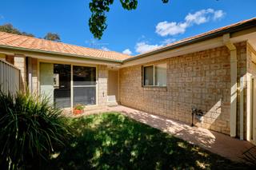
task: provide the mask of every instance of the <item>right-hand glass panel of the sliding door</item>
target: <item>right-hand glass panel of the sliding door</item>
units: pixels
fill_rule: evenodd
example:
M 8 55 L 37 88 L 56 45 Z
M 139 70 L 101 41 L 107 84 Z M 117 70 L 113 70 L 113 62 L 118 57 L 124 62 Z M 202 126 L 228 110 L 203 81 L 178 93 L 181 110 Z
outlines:
M 96 67 L 73 66 L 73 105 L 96 105 Z

